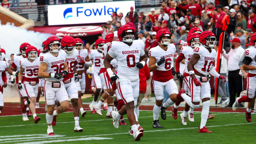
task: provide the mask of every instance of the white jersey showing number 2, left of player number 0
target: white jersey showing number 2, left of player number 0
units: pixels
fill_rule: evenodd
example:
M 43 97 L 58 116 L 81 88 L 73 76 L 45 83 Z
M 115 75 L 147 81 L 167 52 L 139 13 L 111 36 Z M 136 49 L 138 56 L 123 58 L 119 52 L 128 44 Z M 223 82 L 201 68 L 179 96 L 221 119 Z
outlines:
M 97 49 L 90 50 L 89 58 L 92 60 L 92 63 L 94 64 L 94 69 L 92 70 L 93 74 L 97 74 L 100 72 L 101 68 L 101 58 L 102 53 L 98 52 Z

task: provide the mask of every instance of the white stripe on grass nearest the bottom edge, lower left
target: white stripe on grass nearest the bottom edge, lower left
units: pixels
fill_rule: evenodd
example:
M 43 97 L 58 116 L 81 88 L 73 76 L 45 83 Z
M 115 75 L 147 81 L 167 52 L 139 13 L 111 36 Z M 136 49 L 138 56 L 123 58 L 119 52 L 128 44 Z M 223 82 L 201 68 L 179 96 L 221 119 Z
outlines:
M 103 139 L 113 139 L 113 138 L 101 138 L 101 137 L 90 137 L 90 138 L 80 138 L 80 139 L 63 139 L 63 140 L 50 140 L 50 141 L 41 141 L 36 142 L 37 144 L 44 144 L 44 143 L 57 143 L 57 142 L 73 142 L 78 140 L 103 140 Z M 20 143 L 20 144 L 34 144 L 35 142 L 29 143 Z

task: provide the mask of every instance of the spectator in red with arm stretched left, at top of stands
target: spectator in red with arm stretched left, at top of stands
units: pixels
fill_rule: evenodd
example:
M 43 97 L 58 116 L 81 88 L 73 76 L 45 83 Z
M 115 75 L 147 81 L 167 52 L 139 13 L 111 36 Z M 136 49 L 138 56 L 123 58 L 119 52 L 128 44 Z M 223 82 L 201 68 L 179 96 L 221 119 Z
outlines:
M 186 5 L 186 6 L 181 6 L 180 5 L 180 2 L 177 2 L 177 5 L 178 7 L 181 9 L 181 10 L 187 10 L 187 9 L 190 9 L 192 11 L 192 15 L 194 16 L 200 16 L 200 12 L 202 11 L 202 8 L 200 5 L 196 4 L 195 3 L 195 0 L 190 0 L 189 1 L 189 4 Z

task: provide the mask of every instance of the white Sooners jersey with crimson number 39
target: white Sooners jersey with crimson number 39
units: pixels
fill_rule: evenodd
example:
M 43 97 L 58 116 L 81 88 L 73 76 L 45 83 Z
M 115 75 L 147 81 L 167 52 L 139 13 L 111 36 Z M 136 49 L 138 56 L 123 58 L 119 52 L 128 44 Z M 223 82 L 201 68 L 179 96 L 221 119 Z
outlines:
M 22 59 L 20 65 L 24 69 L 25 81 L 38 80 L 39 58 L 36 58 L 33 62 L 30 62 L 27 58 Z

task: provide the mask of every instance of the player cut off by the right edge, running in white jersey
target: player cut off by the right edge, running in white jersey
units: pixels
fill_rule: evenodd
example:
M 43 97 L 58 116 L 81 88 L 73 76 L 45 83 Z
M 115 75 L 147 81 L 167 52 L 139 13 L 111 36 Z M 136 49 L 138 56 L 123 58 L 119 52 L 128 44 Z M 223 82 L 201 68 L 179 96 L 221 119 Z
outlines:
M 255 62 L 256 33 L 252 34 L 252 36 L 251 36 L 251 44 L 252 44 L 252 47 L 245 50 L 245 58 L 243 60 L 243 66 L 242 66 L 244 70 L 249 70 L 249 73 L 247 75 L 247 88 L 246 88 L 247 94 L 245 96 L 236 98 L 236 101 L 234 102 L 234 104 L 232 106 L 233 111 L 235 111 L 236 108 L 238 108 L 240 103 L 248 102 L 248 106 L 245 111 L 246 120 L 248 122 L 251 122 L 251 106 L 254 102 L 253 99 L 255 98 L 255 91 L 256 91 L 256 84 L 255 84 L 255 78 L 256 78 L 256 62 Z

